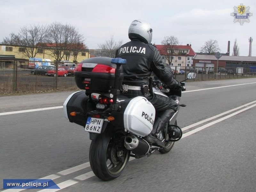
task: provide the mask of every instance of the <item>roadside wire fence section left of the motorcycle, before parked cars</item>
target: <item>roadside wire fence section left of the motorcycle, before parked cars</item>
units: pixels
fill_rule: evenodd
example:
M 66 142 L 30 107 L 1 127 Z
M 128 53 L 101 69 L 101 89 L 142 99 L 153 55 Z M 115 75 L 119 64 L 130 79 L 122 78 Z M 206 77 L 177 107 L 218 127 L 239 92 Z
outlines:
M 50 63 L 49 65 L 55 67 L 51 67 L 54 70 L 53 74 L 46 75 L 46 71 L 42 73 L 42 71 L 39 72 L 35 68 L 28 69 L 26 62 L 28 63 L 28 61 L 23 62 L 25 65 L 19 65 L 17 62 L 6 62 L 0 66 L 0 93 L 40 92 L 77 88 L 73 74 L 68 75 L 67 72 L 67 76 L 59 76 L 60 68 L 68 69 L 69 67 L 66 65 L 73 67 L 73 65 L 76 66 L 76 63 L 48 62 Z M 47 69 L 50 70 L 50 68 Z

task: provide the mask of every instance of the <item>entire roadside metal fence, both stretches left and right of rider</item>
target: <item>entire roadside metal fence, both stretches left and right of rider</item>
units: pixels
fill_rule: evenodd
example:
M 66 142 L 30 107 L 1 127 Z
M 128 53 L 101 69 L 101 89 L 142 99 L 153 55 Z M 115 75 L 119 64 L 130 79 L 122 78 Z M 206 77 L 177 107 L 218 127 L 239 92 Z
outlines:
M 28 62 L 28 61 L 27 61 Z M 63 62 L 52 62 L 54 66 L 66 66 Z M 70 63 L 69 63 L 70 65 Z M 76 65 L 76 63 L 75 63 Z M 32 75 L 33 69 L 20 68 L 21 65 L 17 62 L 9 62 L 8 66 L 0 66 L 0 93 L 12 92 L 41 92 L 48 90 L 72 90 L 78 89 L 75 83 L 75 78 L 71 76 L 47 76 L 47 75 Z M 26 66 L 26 64 L 25 64 Z M 24 67 L 24 66 L 23 66 Z M 59 68 L 59 67 L 58 67 Z M 55 67 L 55 74 L 57 69 Z M 226 71 L 219 71 L 217 68 L 201 68 L 201 67 L 187 67 L 174 70 L 174 77 L 178 81 L 186 79 L 190 71 L 197 73 L 196 79 L 189 81 L 204 81 L 204 80 L 219 80 L 219 79 L 239 79 L 256 77 L 256 73 L 250 71 L 250 68 L 225 68 Z M 232 70 L 232 71 L 230 71 Z M 239 70 L 239 71 L 238 71 Z M 213 72 L 212 72 L 213 71 Z

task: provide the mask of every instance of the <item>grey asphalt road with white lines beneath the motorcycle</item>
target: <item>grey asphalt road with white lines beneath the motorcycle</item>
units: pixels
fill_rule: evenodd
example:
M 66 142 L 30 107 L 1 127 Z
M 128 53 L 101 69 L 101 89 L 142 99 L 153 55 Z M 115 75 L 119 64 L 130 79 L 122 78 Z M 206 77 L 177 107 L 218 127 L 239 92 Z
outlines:
M 3 179 L 45 177 L 60 191 L 256 191 L 256 79 L 186 87 L 177 119 L 182 139 L 168 154 L 131 160 L 108 182 L 92 173 L 84 128 L 61 107 L 38 109 L 61 106 L 71 92 L 0 97 L 0 188 Z M 37 110 L 13 112 L 28 109 Z

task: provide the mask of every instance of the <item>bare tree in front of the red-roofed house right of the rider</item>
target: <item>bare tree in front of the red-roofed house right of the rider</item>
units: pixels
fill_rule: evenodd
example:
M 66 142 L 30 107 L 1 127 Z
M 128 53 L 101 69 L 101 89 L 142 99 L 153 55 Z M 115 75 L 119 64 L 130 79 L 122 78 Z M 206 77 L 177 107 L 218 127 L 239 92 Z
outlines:
M 165 36 L 161 43 L 164 45 L 165 58 L 168 60 L 169 65 L 171 65 L 172 57 L 176 53 L 175 46 L 179 44 L 179 40 L 175 36 Z

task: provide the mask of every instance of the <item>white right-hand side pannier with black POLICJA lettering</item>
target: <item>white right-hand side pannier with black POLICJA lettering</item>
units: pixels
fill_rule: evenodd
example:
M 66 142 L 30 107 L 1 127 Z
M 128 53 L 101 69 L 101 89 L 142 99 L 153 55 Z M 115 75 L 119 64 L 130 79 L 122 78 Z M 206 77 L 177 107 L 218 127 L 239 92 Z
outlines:
M 144 137 L 152 131 L 155 116 L 154 106 L 145 97 L 135 97 L 124 110 L 124 128 Z

